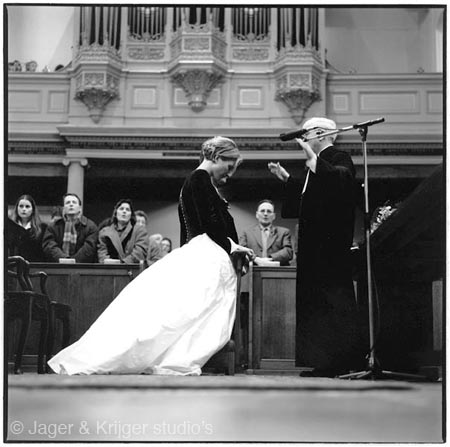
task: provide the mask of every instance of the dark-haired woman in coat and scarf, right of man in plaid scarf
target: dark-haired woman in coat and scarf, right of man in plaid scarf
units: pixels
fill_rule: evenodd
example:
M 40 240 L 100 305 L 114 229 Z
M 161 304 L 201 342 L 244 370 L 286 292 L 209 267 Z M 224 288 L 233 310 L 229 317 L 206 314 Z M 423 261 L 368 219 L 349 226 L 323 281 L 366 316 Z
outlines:
M 98 234 L 98 261 L 117 259 L 124 264 L 138 264 L 145 261 L 148 250 L 147 230 L 136 225 L 133 204 L 121 199 L 114 207 L 111 223 Z

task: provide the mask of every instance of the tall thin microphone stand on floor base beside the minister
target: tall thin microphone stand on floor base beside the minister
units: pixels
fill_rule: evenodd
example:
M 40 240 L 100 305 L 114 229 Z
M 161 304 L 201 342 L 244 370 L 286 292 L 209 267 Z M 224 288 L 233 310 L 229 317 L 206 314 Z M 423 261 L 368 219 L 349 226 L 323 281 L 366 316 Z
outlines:
M 427 377 L 416 374 L 407 374 L 393 371 L 385 371 L 380 367 L 375 354 L 375 315 L 374 302 L 372 296 L 372 265 L 370 249 L 370 215 L 369 215 L 369 175 L 367 169 L 367 132 L 372 124 L 378 124 L 383 119 L 374 120 L 361 124 L 355 124 L 351 128 L 358 129 L 361 135 L 363 164 L 364 164 L 364 230 L 366 246 L 366 270 L 367 270 L 367 304 L 369 308 L 369 356 L 367 361 L 367 370 L 344 374 L 338 376 L 339 379 L 400 379 L 400 380 L 427 380 Z M 347 130 L 347 129 L 346 129 Z

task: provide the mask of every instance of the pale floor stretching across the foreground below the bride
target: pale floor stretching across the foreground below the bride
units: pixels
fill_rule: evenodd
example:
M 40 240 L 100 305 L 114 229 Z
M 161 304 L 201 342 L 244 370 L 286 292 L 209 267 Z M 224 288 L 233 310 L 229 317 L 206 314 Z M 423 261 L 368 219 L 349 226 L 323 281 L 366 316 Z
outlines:
M 441 442 L 442 383 L 8 375 L 7 440 Z

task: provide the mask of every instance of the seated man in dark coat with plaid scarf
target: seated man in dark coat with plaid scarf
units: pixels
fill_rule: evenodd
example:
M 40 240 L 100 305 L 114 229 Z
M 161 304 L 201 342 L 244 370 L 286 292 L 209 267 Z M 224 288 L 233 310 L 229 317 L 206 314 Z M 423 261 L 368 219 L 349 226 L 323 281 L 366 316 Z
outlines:
M 65 194 L 63 204 L 62 217 L 49 224 L 42 240 L 46 259 L 50 262 L 63 258 L 95 262 L 97 225 L 82 215 L 81 200 L 76 194 Z

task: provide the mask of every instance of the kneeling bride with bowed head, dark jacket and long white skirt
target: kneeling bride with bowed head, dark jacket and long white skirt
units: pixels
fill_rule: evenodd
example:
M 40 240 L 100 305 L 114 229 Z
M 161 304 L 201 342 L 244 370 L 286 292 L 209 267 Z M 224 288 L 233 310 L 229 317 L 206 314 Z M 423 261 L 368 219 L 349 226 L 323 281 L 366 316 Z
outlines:
M 234 221 L 215 185 L 242 161 L 234 141 L 214 137 L 186 178 L 178 214 L 181 244 L 128 284 L 88 331 L 48 364 L 58 374 L 200 375 L 230 339 L 236 273 Z

